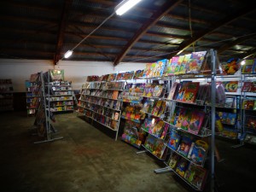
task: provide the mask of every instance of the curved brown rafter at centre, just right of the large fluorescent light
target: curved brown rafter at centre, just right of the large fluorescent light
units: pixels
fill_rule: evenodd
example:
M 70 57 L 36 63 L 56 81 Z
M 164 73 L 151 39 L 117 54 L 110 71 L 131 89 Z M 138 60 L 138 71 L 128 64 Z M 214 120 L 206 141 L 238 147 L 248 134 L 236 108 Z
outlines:
M 160 20 L 164 15 L 169 13 L 172 9 L 174 9 L 179 3 L 183 2 L 183 0 L 178 0 L 176 2 L 174 1 L 167 1 L 162 6 L 162 9 L 156 11 L 149 19 L 146 21 L 143 26 L 135 33 L 133 38 L 126 44 L 125 48 L 121 51 L 121 53 L 116 57 L 115 61 L 113 62 L 113 66 L 118 65 L 120 61 L 125 57 L 127 52 L 131 49 L 131 47 L 137 43 L 137 41 L 143 36 L 145 32 L 148 31 L 148 29 L 151 26 L 154 26 L 154 24 Z

